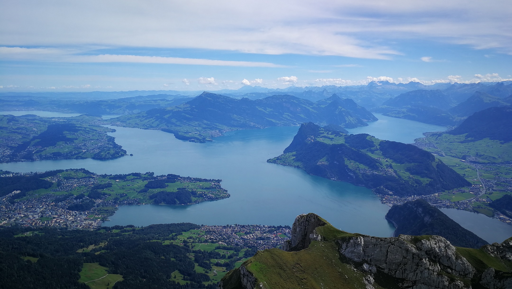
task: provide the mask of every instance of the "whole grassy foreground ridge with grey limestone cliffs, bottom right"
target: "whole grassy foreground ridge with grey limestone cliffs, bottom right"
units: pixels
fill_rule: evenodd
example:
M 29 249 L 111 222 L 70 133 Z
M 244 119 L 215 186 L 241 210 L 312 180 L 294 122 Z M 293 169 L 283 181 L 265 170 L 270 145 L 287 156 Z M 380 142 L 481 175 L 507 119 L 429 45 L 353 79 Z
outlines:
M 510 239 L 468 249 L 440 236 L 379 238 L 340 231 L 310 213 L 297 216 L 285 249 L 288 252 L 258 252 L 226 274 L 219 288 L 504 289 L 512 285 Z

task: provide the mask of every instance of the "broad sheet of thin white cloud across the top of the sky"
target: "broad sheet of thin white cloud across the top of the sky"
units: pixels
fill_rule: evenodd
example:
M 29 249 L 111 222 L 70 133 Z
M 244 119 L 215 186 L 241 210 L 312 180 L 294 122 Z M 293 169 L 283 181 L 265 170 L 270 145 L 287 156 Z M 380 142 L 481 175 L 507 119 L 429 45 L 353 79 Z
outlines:
M 97 7 L 101 7 L 98 9 Z M 437 39 L 512 53 L 512 2 L 4 1 L 7 46 L 159 47 L 389 58 L 386 40 Z M 374 42 L 375 37 L 385 40 Z

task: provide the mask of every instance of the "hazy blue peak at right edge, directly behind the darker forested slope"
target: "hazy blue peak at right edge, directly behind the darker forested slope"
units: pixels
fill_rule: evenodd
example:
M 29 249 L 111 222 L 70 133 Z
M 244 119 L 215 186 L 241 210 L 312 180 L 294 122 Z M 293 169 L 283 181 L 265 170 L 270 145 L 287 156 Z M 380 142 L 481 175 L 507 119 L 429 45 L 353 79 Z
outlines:
M 477 91 L 470 98 L 461 102 L 457 106 L 450 109 L 450 113 L 459 116 L 470 116 L 475 112 L 488 109 L 491 107 L 508 106 L 511 102 L 507 99 L 501 99 L 498 96 L 490 95 L 485 92 Z

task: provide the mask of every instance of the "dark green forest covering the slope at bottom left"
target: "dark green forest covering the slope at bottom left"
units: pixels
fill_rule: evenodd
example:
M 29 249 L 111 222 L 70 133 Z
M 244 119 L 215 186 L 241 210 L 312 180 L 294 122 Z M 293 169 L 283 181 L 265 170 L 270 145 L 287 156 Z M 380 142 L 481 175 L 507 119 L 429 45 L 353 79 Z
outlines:
M 192 250 L 186 244 L 163 244 L 165 240 L 176 239 L 176 233 L 198 228 L 192 223 L 177 223 L 144 228 L 132 225 L 102 227 L 94 231 L 38 228 L 33 232 L 31 230 L 34 229 L 20 227 L 0 229 L 0 288 L 86 289 L 89 286 L 78 281 L 82 265 L 98 262 L 108 268 L 109 274 L 123 276 L 123 280 L 115 283 L 113 289 L 213 289 L 217 284 L 203 284 L 210 281 L 210 277 L 197 273 L 195 262 L 205 269 L 211 269 L 210 259 L 227 258 L 225 255 L 216 251 Z M 27 232 L 30 234 L 25 236 Z M 90 252 L 77 252 L 83 247 L 102 242 L 106 244 Z M 238 252 L 240 250 L 238 248 Z M 250 257 L 254 253 L 255 250 L 250 249 L 245 255 Z M 231 260 L 223 264 L 228 270 L 232 269 L 238 258 Z M 183 280 L 190 282 L 180 285 L 173 281 L 171 273 L 176 270 L 183 275 Z

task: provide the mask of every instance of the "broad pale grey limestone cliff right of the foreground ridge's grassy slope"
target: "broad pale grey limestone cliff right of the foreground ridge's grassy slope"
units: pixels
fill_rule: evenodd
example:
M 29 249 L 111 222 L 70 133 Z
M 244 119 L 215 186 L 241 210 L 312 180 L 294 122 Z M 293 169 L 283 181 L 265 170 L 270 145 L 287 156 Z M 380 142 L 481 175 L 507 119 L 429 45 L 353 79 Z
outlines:
M 432 236 L 414 242 L 413 237 L 392 238 L 356 236 L 338 240 L 339 253 L 356 263 L 375 267 L 392 277 L 403 279 L 402 287 L 467 288 L 462 280 L 471 279 L 475 269 L 446 239 Z

